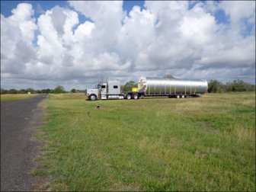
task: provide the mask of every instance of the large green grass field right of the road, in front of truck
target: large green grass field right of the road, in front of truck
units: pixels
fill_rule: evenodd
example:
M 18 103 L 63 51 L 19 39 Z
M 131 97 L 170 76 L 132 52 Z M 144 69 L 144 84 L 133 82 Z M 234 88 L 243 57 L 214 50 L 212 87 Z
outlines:
M 96 108 L 100 105 L 100 108 Z M 41 190 L 255 190 L 255 93 L 85 101 L 50 95 Z

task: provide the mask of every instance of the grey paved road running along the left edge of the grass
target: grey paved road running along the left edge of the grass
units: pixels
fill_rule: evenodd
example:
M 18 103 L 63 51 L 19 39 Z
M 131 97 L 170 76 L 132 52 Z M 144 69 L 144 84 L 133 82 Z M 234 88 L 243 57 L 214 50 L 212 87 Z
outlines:
M 39 146 L 32 128 L 41 123 L 47 97 L 1 102 L 1 191 L 27 191 L 37 183 L 29 174 Z

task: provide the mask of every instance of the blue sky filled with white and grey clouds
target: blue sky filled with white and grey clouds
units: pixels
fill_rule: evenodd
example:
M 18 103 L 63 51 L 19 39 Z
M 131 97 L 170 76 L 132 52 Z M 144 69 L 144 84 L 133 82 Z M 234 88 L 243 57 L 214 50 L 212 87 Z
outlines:
M 255 82 L 255 2 L 1 1 L 1 88 Z

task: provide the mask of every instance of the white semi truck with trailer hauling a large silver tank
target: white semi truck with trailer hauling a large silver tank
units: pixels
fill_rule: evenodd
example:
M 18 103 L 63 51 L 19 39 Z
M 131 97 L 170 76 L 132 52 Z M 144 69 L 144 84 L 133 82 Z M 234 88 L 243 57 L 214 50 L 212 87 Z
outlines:
M 178 78 L 139 78 L 138 88 L 121 91 L 120 81 L 107 81 L 94 89 L 85 89 L 88 100 L 139 99 L 144 97 L 189 98 L 200 97 L 208 88 L 206 80 L 188 80 Z

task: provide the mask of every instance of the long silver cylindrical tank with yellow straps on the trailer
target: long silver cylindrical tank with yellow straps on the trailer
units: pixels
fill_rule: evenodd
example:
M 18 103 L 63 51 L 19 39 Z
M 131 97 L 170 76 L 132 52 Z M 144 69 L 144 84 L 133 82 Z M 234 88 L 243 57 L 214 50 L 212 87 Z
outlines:
M 141 77 L 138 88 L 147 94 L 198 94 L 206 92 L 208 84 L 206 80 Z

